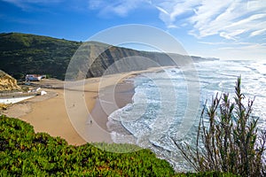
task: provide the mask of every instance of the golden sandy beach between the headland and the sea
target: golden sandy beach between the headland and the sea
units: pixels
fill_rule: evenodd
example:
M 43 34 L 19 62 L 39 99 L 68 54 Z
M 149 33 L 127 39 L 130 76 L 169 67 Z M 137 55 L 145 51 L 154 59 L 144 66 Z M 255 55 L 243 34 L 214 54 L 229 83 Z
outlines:
M 134 87 L 125 79 L 145 71 L 119 73 L 90 78 L 79 87 L 64 89 L 64 81 L 36 82 L 48 94 L 35 96 L 10 106 L 4 114 L 30 123 L 35 132 L 60 136 L 69 144 L 112 142 L 107 130 L 107 116 L 131 102 Z

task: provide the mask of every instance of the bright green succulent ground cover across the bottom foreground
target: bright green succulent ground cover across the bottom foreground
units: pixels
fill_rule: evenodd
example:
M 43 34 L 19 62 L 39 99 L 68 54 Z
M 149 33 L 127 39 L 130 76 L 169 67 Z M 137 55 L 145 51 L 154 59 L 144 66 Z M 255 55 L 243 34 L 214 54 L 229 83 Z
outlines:
M 96 148 L 101 147 L 101 149 Z M 132 153 L 112 153 L 137 150 Z M 35 134 L 20 119 L 0 117 L 0 176 L 234 176 L 230 173 L 175 173 L 151 150 L 130 144 L 68 145 L 64 139 Z

